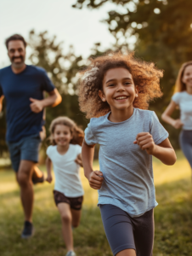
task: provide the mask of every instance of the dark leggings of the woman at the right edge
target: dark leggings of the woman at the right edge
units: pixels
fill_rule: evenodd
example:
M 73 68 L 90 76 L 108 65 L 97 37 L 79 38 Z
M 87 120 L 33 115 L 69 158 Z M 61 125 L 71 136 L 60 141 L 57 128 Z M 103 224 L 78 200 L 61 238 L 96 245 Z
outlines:
M 179 135 L 179 143 L 186 159 L 189 161 L 189 165 L 192 169 L 192 130 L 181 131 Z

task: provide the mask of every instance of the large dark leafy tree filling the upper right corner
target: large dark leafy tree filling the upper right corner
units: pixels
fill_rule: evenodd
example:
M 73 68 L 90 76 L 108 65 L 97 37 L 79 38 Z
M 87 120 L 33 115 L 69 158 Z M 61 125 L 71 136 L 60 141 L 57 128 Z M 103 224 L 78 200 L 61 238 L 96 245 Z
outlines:
M 99 9 L 106 2 L 114 9 L 104 20 L 116 38 L 116 46 L 130 46 L 135 38 L 136 55 L 144 61 L 153 61 L 165 71 L 161 80 L 164 96 L 150 103 L 150 109 L 161 113 L 170 102 L 178 69 L 192 60 L 192 1 L 189 0 L 76 0 L 74 8 Z M 175 117 L 178 113 L 175 113 Z M 164 124 L 170 133 L 172 145 L 178 148 L 178 131 Z M 177 137 L 177 139 L 175 139 Z

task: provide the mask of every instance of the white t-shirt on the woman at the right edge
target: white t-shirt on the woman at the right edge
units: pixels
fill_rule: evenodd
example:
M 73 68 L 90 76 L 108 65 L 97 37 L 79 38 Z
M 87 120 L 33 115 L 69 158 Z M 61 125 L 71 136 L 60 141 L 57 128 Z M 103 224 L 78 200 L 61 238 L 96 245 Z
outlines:
M 187 91 L 177 92 L 172 96 L 172 101 L 180 108 L 180 119 L 184 123 L 184 130 L 192 130 L 192 95 Z

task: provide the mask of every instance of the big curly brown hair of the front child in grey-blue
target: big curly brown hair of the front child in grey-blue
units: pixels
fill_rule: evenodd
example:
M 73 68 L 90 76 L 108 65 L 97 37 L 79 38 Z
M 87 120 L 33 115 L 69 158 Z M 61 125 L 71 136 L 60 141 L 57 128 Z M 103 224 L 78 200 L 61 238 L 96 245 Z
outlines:
M 99 117 L 110 112 L 110 105 L 102 102 L 99 90 L 103 90 L 104 74 L 112 68 L 126 68 L 138 85 L 138 97 L 133 102 L 134 108 L 147 109 L 149 102 L 162 96 L 160 78 L 163 72 L 153 62 L 140 61 L 134 53 L 122 54 L 110 52 L 89 60 L 88 66 L 80 72 L 79 105 L 88 119 Z

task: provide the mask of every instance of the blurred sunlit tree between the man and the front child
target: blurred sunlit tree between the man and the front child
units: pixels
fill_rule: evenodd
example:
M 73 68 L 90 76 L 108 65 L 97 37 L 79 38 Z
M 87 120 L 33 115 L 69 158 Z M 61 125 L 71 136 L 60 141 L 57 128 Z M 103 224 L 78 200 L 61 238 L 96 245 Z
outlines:
M 63 101 L 55 108 L 48 108 L 46 128 L 50 122 L 59 115 L 67 115 L 85 128 L 88 120 L 80 112 L 77 99 L 77 73 L 83 67 L 82 56 L 76 56 L 70 46 L 67 54 L 64 54 L 63 44 L 57 43 L 57 38 L 48 37 L 48 32 L 37 34 L 30 32 L 29 45 L 32 49 L 30 60 L 34 65 L 43 67 L 54 85 L 59 90 Z

